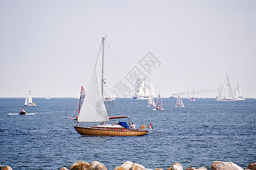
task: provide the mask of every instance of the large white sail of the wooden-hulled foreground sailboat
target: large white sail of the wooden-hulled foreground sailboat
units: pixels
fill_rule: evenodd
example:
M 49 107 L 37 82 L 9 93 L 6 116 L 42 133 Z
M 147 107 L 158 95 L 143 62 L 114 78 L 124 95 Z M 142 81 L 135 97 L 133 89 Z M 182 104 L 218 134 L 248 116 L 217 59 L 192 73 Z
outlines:
M 104 38 L 103 38 L 104 41 Z M 101 48 L 100 48 L 101 49 Z M 106 107 L 102 99 L 100 92 L 99 80 L 98 80 L 98 59 L 93 70 L 93 75 L 89 86 L 87 87 L 86 97 L 83 101 L 81 111 L 78 116 L 78 122 L 106 122 L 109 121 Z

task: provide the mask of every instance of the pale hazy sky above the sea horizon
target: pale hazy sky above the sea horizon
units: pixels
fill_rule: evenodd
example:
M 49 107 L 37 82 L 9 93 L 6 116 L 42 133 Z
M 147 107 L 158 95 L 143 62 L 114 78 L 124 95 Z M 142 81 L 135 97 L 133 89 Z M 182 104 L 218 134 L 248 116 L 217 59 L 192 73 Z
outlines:
M 233 91 L 256 97 L 254 0 L 0 0 L 0 23 L 0 97 L 26 97 L 28 83 L 32 97 L 76 97 L 105 35 L 132 91 L 139 70 L 162 97 L 186 97 L 193 82 L 195 97 L 216 97 L 228 73 Z

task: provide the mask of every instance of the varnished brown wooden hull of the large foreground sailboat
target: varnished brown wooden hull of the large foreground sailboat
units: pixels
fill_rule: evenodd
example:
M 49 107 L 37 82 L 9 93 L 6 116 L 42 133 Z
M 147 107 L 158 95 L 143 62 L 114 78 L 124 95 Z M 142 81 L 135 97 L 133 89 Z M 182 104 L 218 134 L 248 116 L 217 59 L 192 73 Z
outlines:
M 82 136 L 143 136 L 148 130 L 110 130 L 74 126 Z

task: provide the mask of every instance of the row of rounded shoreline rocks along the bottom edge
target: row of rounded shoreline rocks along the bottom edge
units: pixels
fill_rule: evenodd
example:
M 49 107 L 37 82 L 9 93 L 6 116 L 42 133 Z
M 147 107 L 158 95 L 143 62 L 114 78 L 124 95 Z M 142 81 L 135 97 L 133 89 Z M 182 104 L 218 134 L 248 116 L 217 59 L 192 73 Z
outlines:
M 12 170 L 12 168 L 10 166 L 5 166 L 2 168 L 2 165 L 0 165 L 0 170 Z M 60 170 L 107 170 L 107 168 L 105 167 L 104 164 L 98 161 L 93 161 L 90 164 L 87 162 L 78 161 L 74 163 L 70 167 L 70 169 L 66 167 L 62 167 Z M 148 169 L 141 164 L 127 161 L 122 165 L 120 165 L 119 167 L 116 167 L 114 170 L 153 170 L 153 169 Z M 155 170 L 163 170 L 163 169 L 157 168 Z M 175 162 L 170 168 L 167 168 L 167 170 L 183 170 L 183 167 L 180 163 Z M 207 168 L 187 167 L 185 170 L 207 170 Z M 237 164 L 234 164 L 233 162 L 213 161 L 211 170 L 244 170 L 244 169 L 239 167 Z M 245 170 L 256 170 L 256 163 L 250 163 L 249 165 L 247 165 Z

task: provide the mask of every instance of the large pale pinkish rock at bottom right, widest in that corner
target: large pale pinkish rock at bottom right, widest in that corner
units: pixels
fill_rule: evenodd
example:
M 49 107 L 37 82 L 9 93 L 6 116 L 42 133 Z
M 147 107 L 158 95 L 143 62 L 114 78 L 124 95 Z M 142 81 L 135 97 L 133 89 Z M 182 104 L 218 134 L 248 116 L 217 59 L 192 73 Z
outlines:
M 233 162 L 213 161 L 211 170 L 244 170 Z

